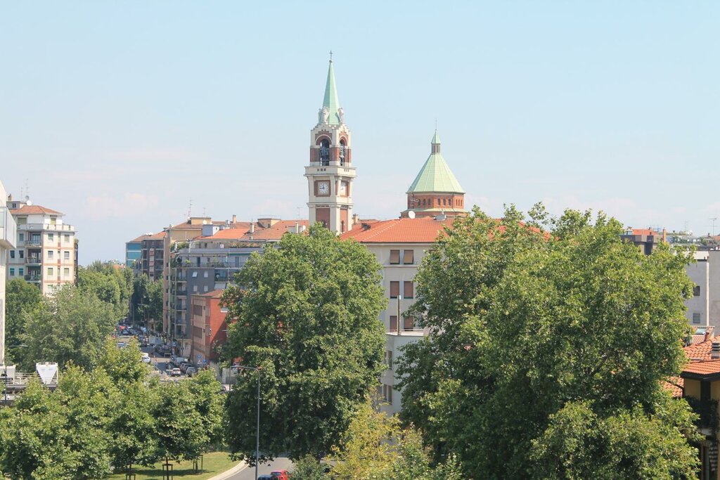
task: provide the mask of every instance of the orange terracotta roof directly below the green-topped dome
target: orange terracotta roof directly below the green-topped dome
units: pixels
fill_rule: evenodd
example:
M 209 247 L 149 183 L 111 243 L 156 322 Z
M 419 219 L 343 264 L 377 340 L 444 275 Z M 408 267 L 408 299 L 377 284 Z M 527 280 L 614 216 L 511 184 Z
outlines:
M 379 222 L 365 222 L 341 235 L 360 243 L 433 243 L 444 226 L 454 219 L 436 220 L 433 217 L 397 218 Z

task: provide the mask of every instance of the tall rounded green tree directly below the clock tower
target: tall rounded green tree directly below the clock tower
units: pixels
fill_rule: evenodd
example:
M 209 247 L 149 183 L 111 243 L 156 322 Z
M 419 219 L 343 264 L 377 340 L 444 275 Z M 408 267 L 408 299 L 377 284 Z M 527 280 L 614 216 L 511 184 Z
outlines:
M 293 458 L 328 453 L 382 371 L 386 300 L 380 266 L 358 243 L 315 225 L 253 255 L 228 289 L 228 359 L 261 366 L 262 450 Z M 230 320 L 232 322 L 232 320 Z M 225 437 L 255 456 L 256 373 L 228 395 Z

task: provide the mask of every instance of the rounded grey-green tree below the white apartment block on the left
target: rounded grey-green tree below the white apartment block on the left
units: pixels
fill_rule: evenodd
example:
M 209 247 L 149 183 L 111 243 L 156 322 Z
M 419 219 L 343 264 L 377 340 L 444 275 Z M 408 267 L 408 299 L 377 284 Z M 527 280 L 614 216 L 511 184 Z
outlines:
M 107 335 L 114 330 L 111 305 L 84 294 L 75 286 L 64 286 L 53 296 L 42 299 L 40 307 L 28 315 L 19 355 L 28 371 L 36 362 L 57 362 L 62 368 L 72 361 L 90 370 L 102 351 Z

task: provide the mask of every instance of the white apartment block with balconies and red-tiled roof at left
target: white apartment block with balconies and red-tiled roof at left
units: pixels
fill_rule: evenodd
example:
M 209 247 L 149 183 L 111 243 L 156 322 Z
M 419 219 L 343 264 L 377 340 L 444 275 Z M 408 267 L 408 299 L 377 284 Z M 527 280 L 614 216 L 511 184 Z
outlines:
M 36 284 L 44 295 L 75 284 L 76 232 L 63 222 L 63 214 L 12 196 L 6 205 L 17 223 L 17 243 L 9 250 L 6 279 Z

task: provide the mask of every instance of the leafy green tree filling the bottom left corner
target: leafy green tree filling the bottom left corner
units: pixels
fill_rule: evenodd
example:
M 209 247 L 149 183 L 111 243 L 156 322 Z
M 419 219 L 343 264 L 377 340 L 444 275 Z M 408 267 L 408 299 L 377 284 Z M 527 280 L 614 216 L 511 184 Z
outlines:
M 113 388 L 104 371 L 69 366 L 50 392 L 33 380 L 0 413 L 0 471 L 12 480 L 98 479 L 110 473 Z

